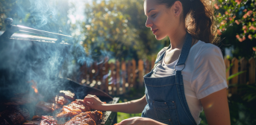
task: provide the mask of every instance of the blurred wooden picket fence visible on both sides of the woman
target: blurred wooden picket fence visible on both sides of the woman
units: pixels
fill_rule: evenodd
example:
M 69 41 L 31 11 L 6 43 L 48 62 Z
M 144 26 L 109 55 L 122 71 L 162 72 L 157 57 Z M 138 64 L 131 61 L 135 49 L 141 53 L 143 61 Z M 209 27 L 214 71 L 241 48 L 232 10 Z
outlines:
M 81 66 L 81 76 L 76 80 L 78 83 L 87 84 L 87 86 L 101 89 L 108 94 L 125 94 L 131 88 L 144 87 L 143 75 L 149 73 L 154 66 L 154 60 L 135 60 L 116 61 L 115 63 L 102 63 L 97 65 L 93 63 L 90 67 Z M 230 67 L 231 65 L 231 67 Z M 240 71 L 246 71 L 237 77 L 228 80 L 229 84 L 250 84 L 255 83 L 255 59 L 231 61 L 225 59 L 226 77 L 236 74 Z M 237 94 L 237 87 L 228 89 L 228 93 Z

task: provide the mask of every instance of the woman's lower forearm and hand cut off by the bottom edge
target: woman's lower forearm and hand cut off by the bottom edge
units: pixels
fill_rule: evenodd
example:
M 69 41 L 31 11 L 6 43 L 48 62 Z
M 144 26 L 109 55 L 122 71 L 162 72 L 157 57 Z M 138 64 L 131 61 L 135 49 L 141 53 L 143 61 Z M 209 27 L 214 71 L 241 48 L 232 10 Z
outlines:
M 154 121 L 150 118 L 142 118 L 142 117 L 134 117 L 134 118 L 128 118 L 123 121 L 121 121 L 117 125 L 163 125 L 163 123 L 160 123 L 158 121 Z

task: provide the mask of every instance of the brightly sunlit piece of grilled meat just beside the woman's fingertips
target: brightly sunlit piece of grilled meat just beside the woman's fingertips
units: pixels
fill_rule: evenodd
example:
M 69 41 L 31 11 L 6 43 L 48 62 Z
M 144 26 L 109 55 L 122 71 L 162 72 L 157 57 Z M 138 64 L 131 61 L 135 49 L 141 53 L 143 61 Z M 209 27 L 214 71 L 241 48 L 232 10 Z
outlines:
M 84 100 L 77 99 L 69 103 L 69 105 L 63 106 L 63 109 L 57 114 L 57 118 L 73 117 L 81 112 L 88 112 L 90 110 L 90 107 L 85 105 Z

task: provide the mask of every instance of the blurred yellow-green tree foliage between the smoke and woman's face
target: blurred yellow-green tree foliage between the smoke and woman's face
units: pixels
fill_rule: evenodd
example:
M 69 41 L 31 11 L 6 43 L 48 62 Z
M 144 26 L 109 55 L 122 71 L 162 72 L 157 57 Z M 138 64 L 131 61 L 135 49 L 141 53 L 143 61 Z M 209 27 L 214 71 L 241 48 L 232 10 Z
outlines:
M 145 26 L 143 1 L 93 1 L 86 4 L 85 15 L 81 27 L 86 50 L 107 50 L 118 60 L 138 60 L 149 59 L 163 48 Z

